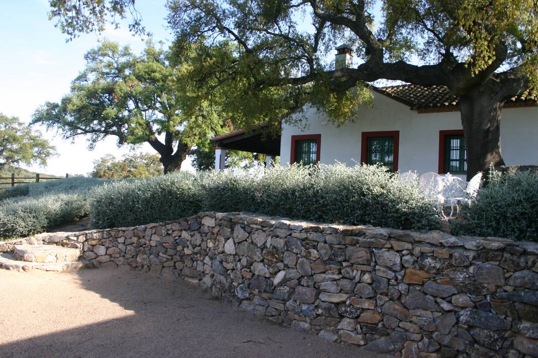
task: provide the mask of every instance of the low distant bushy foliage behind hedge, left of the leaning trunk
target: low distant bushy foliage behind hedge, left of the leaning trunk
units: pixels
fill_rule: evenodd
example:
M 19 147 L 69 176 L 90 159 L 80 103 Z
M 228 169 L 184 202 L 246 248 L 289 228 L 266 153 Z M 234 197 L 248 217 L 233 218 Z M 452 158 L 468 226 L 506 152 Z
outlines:
M 148 178 L 161 174 L 162 165 L 158 155 L 134 153 L 124 155 L 121 160 L 111 154 L 94 160 L 94 170 L 89 175 L 100 179 L 126 179 Z

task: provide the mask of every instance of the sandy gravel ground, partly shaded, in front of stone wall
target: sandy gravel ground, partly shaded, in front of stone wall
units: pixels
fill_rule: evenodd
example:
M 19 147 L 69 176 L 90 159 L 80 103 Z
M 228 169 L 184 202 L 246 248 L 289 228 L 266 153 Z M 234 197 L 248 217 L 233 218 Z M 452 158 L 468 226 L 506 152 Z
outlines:
M 1 357 L 368 357 L 129 268 L 0 270 Z

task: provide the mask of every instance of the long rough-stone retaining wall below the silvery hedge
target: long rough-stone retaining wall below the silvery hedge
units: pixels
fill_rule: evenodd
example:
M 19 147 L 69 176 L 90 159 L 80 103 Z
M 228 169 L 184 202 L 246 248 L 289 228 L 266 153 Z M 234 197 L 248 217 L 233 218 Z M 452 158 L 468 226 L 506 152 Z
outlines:
M 535 243 L 216 213 L 32 240 L 79 246 L 96 266 L 182 276 L 254 315 L 376 352 L 538 357 Z

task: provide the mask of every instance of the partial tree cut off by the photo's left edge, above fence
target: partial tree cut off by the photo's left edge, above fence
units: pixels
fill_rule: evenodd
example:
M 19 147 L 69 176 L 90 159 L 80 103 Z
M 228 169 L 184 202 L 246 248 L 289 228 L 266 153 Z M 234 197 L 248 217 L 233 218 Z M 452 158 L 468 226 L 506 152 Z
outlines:
M 0 113 L 0 170 L 19 164 L 46 165 L 55 153 L 55 148 L 39 131 L 32 133 L 18 118 Z

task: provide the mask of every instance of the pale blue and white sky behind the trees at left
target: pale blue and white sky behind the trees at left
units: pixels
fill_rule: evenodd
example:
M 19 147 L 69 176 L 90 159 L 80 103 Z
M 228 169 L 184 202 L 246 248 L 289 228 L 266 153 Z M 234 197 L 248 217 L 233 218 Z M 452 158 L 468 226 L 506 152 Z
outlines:
M 170 42 L 172 35 L 166 28 L 165 0 L 137 0 L 137 10 L 147 31 L 156 41 Z M 25 123 L 46 101 L 58 102 L 69 92 L 71 81 L 84 68 L 84 54 L 98 46 L 100 39 L 130 45 L 135 53 L 144 48 L 144 39 L 132 36 L 127 23 L 115 30 L 107 28 L 101 35 L 84 34 L 66 42 L 67 36 L 48 20 L 47 0 L 0 0 L 0 113 L 16 116 Z M 34 127 L 39 129 L 39 127 Z M 66 173 L 88 174 L 93 161 L 105 154 L 116 157 L 132 148 L 118 148 L 116 138 L 97 143 L 89 151 L 86 137 L 79 136 L 74 143 L 63 140 L 55 131 L 44 136 L 55 145 L 59 155 L 48 160 L 46 167 L 25 166 L 41 173 L 63 176 Z M 155 154 L 148 144 L 136 151 Z M 192 171 L 190 159 L 183 162 L 182 170 Z

